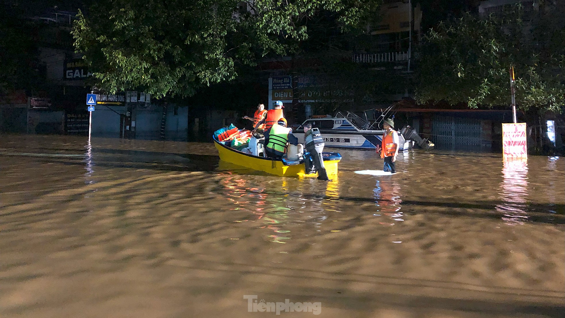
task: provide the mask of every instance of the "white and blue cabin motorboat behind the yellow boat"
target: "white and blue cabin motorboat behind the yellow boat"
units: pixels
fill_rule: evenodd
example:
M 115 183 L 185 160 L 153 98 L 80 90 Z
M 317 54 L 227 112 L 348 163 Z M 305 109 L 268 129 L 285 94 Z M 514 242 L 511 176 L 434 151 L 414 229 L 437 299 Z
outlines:
M 304 143 L 303 127 L 312 124 L 312 128 L 320 129 L 326 147 L 333 148 L 355 148 L 376 149 L 380 145 L 385 134 L 384 129 L 373 129 L 379 123 L 371 124 L 352 112 L 337 112 L 335 115 L 311 116 L 302 125 L 294 129 L 294 136 L 298 141 Z M 400 151 L 412 147 L 412 141 L 405 140 L 401 133 L 398 134 Z

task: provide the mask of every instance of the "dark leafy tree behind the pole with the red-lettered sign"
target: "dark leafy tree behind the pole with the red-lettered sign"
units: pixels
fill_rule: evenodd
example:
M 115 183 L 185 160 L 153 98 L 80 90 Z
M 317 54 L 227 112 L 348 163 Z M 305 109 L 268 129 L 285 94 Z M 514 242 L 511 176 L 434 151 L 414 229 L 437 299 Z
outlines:
M 559 13 L 561 12 L 561 13 Z M 560 112 L 565 102 L 563 7 L 539 12 L 515 7 L 503 16 L 466 14 L 425 36 L 416 98 L 468 107 L 510 104 L 509 68 L 516 73 L 516 106 Z

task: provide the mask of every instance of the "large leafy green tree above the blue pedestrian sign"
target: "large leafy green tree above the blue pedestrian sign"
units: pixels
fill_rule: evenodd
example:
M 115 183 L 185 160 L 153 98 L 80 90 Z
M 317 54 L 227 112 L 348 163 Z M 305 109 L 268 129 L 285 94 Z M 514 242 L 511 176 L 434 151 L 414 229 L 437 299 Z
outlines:
M 331 14 L 342 30 L 362 25 L 380 0 L 102 0 L 79 12 L 72 34 L 108 92 L 193 95 L 237 76 L 267 54 L 308 38 L 308 22 Z

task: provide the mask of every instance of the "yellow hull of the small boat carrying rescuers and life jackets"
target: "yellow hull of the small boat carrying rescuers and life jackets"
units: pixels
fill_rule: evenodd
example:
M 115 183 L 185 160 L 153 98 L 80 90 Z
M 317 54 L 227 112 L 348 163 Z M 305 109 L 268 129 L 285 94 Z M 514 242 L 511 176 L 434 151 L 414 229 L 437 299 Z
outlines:
M 303 160 L 287 158 L 273 159 L 243 153 L 224 145 L 214 136 L 214 145 L 218 149 L 220 160 L 242 167 L 270 173 L 281 177 L 317 177 L 318 173 L 306 173 Z M 329 178 L 337 177 L 337 163 L 341 160 L 338 153 L 323 153 L 324 167 Z

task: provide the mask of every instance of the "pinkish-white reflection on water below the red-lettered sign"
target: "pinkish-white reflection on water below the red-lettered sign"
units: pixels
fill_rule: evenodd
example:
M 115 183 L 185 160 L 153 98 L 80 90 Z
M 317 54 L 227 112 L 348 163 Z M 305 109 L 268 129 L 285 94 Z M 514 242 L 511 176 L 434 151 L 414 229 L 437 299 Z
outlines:
M 526 212 L 528 198 L 528 162 L 527 160 L 505 160 L 502 168 L 500 185 L 502 204 L 497 210 L 502 212 L 508 225 L 524 224 L 528 219 Z

